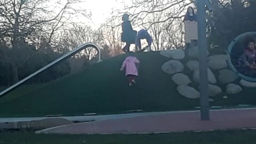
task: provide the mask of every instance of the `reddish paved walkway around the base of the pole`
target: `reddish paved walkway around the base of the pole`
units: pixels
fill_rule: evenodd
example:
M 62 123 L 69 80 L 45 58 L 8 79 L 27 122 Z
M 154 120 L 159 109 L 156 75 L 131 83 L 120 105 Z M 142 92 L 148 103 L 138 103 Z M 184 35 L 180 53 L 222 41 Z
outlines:
M 211 121 L 201 121 L 199 111 L 108 119 L 53 127 L 36 133 L 116 134 L 211 131 L 256 127 L 256 109 L 211 110 Z

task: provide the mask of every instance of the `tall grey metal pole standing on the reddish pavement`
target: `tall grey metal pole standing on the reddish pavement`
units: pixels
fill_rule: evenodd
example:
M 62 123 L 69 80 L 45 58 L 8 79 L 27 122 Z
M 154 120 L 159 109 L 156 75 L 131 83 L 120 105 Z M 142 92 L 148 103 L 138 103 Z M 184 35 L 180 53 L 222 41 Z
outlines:
M 199 46 L 199 73 L 201 120 L 210 120 L 209 116 L 209 90 L 207 76 L 207 43 L 206 43 L 206 12 L 205 0 L 197 0 L 198 46 Z

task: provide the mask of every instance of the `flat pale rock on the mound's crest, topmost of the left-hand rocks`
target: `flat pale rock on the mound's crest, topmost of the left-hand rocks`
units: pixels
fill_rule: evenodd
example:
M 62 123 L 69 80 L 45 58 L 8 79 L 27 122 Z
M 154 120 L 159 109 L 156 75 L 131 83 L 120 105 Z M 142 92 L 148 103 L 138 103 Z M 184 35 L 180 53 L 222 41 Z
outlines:
M 172 58 L 175 60 L 181 60 L 185 58 L 185 52 L 182 49 L 161 51 L 160 54 L 164 57 Z

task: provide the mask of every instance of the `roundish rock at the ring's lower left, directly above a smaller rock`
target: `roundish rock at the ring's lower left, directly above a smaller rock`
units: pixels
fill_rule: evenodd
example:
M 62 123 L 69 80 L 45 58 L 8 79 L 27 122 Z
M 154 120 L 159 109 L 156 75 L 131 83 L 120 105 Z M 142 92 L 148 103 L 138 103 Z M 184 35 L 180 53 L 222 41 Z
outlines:
M 222 69 L 219 71 L 219 81 L 222 84 L 228 84 L 228 83 L 234 82 L 237 78 L 238 76 L 236 75 L 236 73 L 234 73 L 231 70 Z

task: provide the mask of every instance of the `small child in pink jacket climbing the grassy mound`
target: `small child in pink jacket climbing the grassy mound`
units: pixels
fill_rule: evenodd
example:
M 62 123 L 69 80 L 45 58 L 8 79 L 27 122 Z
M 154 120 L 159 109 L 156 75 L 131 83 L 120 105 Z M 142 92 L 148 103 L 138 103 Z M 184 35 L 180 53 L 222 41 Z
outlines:
M 135 77 L 138 76 L 139 63 L 140 61 L 133 56 L 132 52 L 123 62 L 120 70 L 123 71 L 125 69 L 125 76 L 128 78 L 129 86 L 132 86 L 132 83 L 136 83 Z

